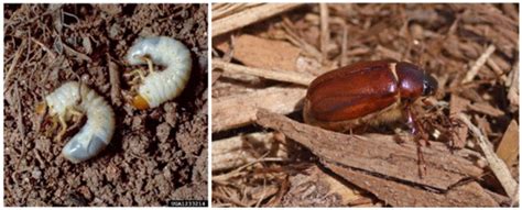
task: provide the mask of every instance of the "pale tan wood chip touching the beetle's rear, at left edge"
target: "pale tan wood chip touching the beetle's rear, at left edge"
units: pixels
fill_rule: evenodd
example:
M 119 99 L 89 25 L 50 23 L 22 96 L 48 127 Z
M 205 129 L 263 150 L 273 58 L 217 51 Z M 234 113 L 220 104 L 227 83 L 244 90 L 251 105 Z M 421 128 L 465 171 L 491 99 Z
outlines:
M 290 113 L 302 107 L 306 89 L 300 87 L 271 87 L 239 96 L 213 100 L 213 132 L 225 131 L 252 123 L 259 108 L 276 113 Z

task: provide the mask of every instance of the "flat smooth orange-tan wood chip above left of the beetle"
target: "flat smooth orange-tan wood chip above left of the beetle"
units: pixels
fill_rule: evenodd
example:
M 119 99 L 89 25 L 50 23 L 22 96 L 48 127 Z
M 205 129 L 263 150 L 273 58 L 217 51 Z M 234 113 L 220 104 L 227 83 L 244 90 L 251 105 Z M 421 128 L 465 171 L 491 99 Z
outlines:
M 224 52 L 230 51 L 230 46 L 226 42 L 216 47 Z M 287 42 L 248 34 L 236 36 L 233 42 L 233 58 L 246 66 L 257 68 L 295 70 L 300 54 L 301 49 Z

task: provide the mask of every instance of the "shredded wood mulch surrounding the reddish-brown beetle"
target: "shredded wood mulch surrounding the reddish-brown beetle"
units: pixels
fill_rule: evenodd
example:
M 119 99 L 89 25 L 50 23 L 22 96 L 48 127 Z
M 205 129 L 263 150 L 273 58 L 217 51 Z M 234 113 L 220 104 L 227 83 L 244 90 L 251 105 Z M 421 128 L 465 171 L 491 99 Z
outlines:
M 502 154 L 502 159 L 509 163 L 515 176 L 519 154 L 505 148 L 514 148 L 512 144 L 518 142 L 513 128 L 508 129 L 512 126 L 511 121 L 519 124 L 516 3 L 306 3 L 287 10 L 274 9 L 259 16 L 248 14 L 255 14 L 267 5 L 271 4 L 213 4 L 213 11 L 216 11 L 213 27 L 217 24 L 220 30 L 217 33 L 220 35 L 213 34 L 213 76 L 217 77 L 213 78 L 211 95 L 213 104 L 218 106 L 213 107 L 217 108 L 217 112 L 213 109 L 213 141 L 239 140 L 249 133 L 267 132 L 267 128 L 280 130 L 281 124 L 270 122 L 262 126 L 252 125 L 255 112 L 268 107 L 270 112 L 290 114 L 297 124 L 292 122 L 289 128 L 301 128 L 298 132 L 290 132 L 292 135 L 282 132 L 284 136 L 279 139 L 286 140 L 282 146 L 289 151 L 289 159 L 298 156 L 297 159 L 308 165 L 301 168 L 301 163 L 292 161 L 265 162 L 259 158 L 254 162 L 250 159 L 251 165 L 230 164 L 231 167 L 214 175 L 226 178 L 213 188 L 213 192 L 221 196 L 213 198 L 214 205 L 518 206 L 486 168 L 488 162 L 472 141 L 476 137 L 458 117 L 466 113 L 476 122 L 482 134 L 499 146 L 493 151 L 501 152 L 499 156 Z M 222 20 L 230 22 L 226 25 Z M 326 140 L 316 144 L 311 142 L 316 142 L 324 133 L 316 135 L 313 133 L 316 128 L 298 123 L 302 122 L 302 104 L 298 101 L 305 97 L 305 88 L 313 78 L 357 62 L 378 59 L 416 64 L 438 81 L 435 97 L 422 99 L 427 103 L 417 100 L 413 104 L 432 143 L 421 147 L 428 168 L 425 179 L 418 178 L 417 147 L 406 140 L 412 137 L 404 135 L 411 132 L 404 120 L 369 125 L 368 131 L 377 134 L 369 134 L 368 131 L 355 132 L 351 137 L 341 133 L 325 134 Z M 284 96 L 274 88 L 289 84 L 298 85 L 302 88 L 300 93 Z M 284 111 L 273 111 L 283 107 L 281 110 Z M 280 121 L 272 123 L 275 122 Z M 361 139 L 361 143 L 354 143 L 358 141 L 350 141 L 352 137 Z M 373 140 L 380 143 L 379 146 Z M 231 147 L 236 145 L 229 144 Z M 249 150 L 244 148 L 244 152 Z M 395 181 L 404 189 L 414 190 L 387 194 L 379 187 L 361 188 L 362 184 L 355 185 L 358 179 L 334 175 L 347 189 L 360 189 L 361 198 L 348 202 L 325 196 L 322 201 L 315 200 L 314 196 L 323 194 L 311 194 L 312 189 L 317 192 L 335 190 L 328 189 L 327 185 L 298 183 L 313 180 L 312 175 L 300 174 L 315 172 L 311 169 L 311 164 L 320 166 L 320 170 L 329 175 L 334 175 L 331 168 L 325 165 L 335 164 L 358 173 L 359 178 L 363 177 L 363 173 L 379 178 L 379 184 Z M 300 165 L 298 169 L 295 169 L 296 165 Z M 227 175 L 238 168 L 240 173 Z M 255 172 L 260 170 L 273 173 L 265 179 L 267 183 L 258 179 Z M 474 181 L 461 183 L 463 179 Z M 274 195 L 271 191 L 273 186 L 279 189 Z M 259 192 L 259 189 L 265 189 L 265 192 Z M 420 198 L 434 199 L 412 199 L 416 196 L 415 190 L 423 191 Z M 255 195 L 255 199 L 249 197 L 251 195 Z M 416 201 L 417 205 L 414 203 Z

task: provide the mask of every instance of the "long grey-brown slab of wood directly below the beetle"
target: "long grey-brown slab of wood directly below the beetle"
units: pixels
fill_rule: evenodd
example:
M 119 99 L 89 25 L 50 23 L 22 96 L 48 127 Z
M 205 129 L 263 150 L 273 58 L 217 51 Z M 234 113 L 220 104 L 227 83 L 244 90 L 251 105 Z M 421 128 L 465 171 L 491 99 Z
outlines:
M 308 147 L 324 162 L 436 189 L 448 189 L 463 178 L 478 177 L 482 173 L 472 162 L 464 158 L 478 154 L 468 150 L 452 152 L 438 142 L 432 142 L 431 146 L 422 148 L 427 174 L 421 178 L 417 174 L 417 145 L 412 141 L 398 144 L 393 135 L 345 135 L 298 123 L 267 110 L 258 112 L 257 123 L 284 133 L 286 137 Z

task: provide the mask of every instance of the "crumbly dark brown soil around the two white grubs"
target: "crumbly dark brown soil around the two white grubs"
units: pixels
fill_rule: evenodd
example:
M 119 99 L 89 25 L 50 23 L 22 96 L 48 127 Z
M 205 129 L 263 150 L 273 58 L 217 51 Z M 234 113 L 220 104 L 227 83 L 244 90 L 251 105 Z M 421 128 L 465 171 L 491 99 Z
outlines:
M 6 206 L 207 199 L 206 4 L 6 4 L 4 33 Z M 122 76 L 135 66 L 123 57 L 149 35 L 186 44 L 194 67 L 180 97 L 138 111 L 126 102 L 130 87 Z M 109 146 L 76 165 L 61 156 L 74 132 L 53 141 L 34 111 L 68 80 L 86 82 L 116 113 Z

